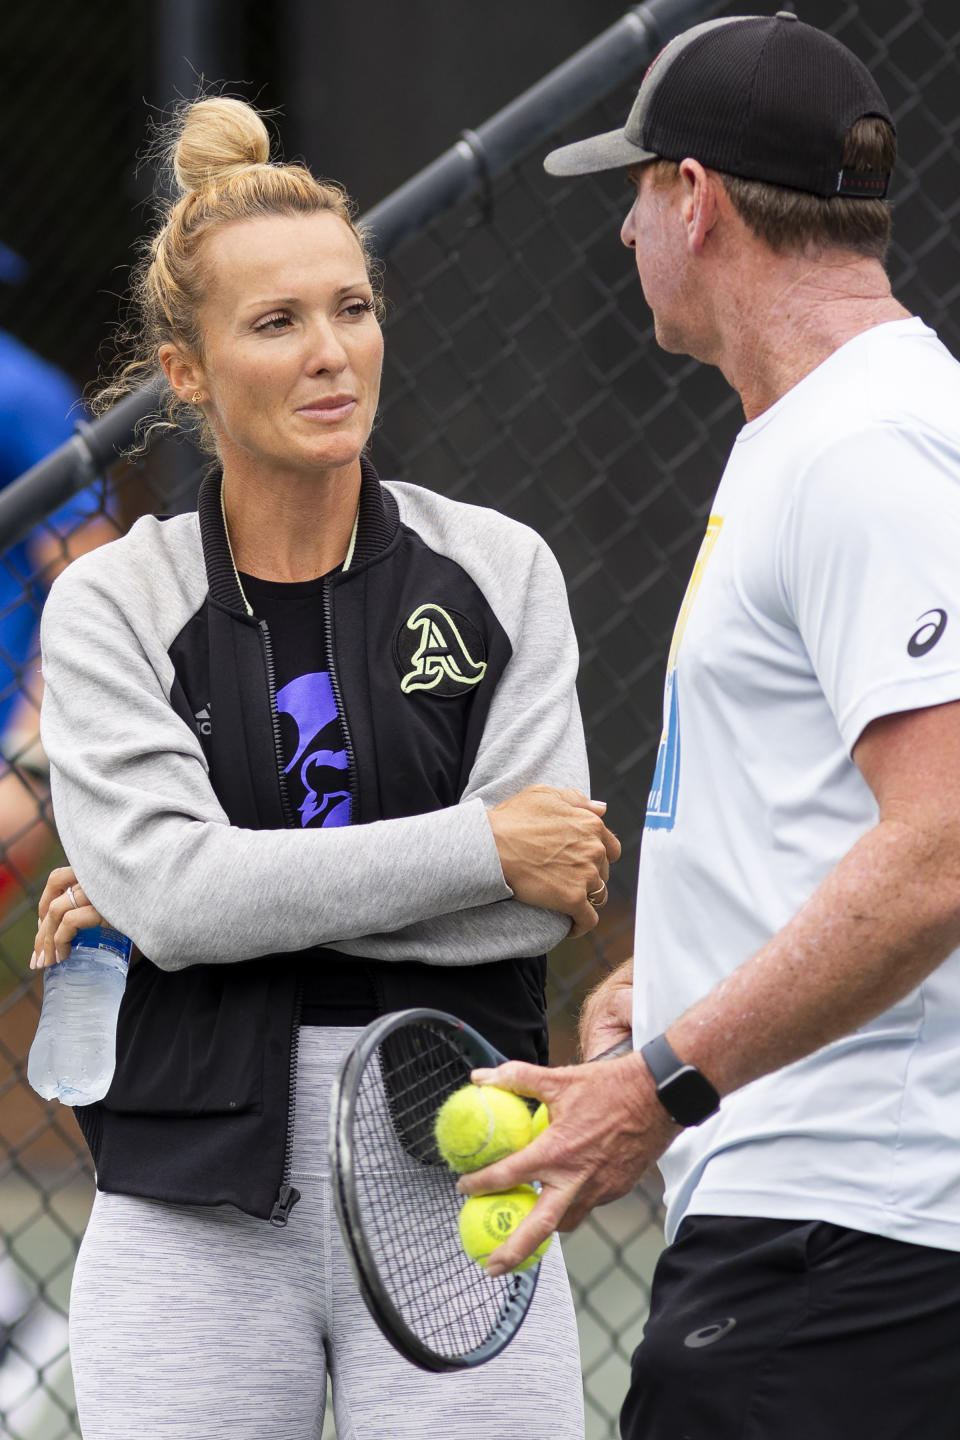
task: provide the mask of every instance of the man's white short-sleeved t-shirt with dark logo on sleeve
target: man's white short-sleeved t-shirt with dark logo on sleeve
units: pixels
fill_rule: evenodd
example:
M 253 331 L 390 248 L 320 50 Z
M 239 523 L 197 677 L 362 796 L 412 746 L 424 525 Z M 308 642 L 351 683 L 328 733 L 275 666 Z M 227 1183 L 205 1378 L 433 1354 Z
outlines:
M 744 426 L 724 471 L 668 664 L 636 1044 L 877 822 L 851 760 L 864 727 L 957 698 L 960 364 L 902 320 Z M 661 1168 L 669 1238 L 697 1212 L 960 1250 L 960 952 L 855 1034 L 728 1096 Z

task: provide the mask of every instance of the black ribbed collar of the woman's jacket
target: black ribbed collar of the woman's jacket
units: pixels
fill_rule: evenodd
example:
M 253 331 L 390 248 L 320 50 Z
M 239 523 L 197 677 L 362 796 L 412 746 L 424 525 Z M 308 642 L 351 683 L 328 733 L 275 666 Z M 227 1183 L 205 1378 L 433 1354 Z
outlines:
M 210 595 L 219 605 L 240 615 L 249 615 L 240 580 L 233 563 L 233 552 L 223 518 L 223 478 L 219 469 L 210 471 L 200 485 L 197 513 L 200 517 L 200 540 L 207 570 Z M 380 478 L 366 458 L 360 456 L 360 504 L 357 505 L 357 528 L 350 569 L 374 560 L 396 536 L 400 514 L 393 495 L 383 488 Z

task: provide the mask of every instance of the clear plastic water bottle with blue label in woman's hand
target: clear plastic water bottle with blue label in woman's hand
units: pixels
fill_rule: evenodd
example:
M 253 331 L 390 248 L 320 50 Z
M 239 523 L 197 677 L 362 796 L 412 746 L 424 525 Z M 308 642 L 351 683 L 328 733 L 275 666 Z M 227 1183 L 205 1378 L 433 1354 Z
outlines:
M 109 1090 L 130 950 L 125 935 L 101 924 L 79 930 L 68 958 L 43 971 L 27 1080 L 45 1100 L 92 1104 Z

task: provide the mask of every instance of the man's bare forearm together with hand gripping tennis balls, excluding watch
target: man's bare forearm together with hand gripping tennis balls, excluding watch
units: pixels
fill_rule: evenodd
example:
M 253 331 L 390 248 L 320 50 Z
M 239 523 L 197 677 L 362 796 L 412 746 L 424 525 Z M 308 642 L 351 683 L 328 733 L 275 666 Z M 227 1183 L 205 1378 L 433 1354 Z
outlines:
M 666 1035 L 725 1096 L 881 1014 L 959 943 L 960 837 L 943 825 L 884 821 Z M 543 1184 L 537 1207 L 497 1253 L 497 1273 L 550 1230 L 570 1230 L 626 1194 L 679 1133 L 636 1053 L 557 1070 L 514 1060 L 479 1079 L 544 1100 L 551 1120 L 533 1145 L 459 1181 L 463 1194 Z

